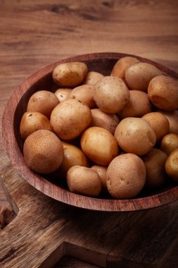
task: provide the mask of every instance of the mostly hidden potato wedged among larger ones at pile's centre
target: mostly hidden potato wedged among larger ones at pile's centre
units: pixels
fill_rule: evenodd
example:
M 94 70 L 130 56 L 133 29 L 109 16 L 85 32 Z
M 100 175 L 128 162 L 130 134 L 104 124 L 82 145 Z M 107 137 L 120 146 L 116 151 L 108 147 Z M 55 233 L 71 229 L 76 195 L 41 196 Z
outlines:
M 101 109 L 91 109 L 91 126 L 105 128 L 114 135 L 120 119 L 115 114 L 106 114 Z

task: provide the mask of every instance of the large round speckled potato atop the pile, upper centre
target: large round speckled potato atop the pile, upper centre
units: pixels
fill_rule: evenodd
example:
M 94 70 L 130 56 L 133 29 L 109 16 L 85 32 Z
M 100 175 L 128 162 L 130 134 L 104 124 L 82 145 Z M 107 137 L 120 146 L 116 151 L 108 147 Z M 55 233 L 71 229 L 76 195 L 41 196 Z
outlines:
M 129 90 L 120 78 L 105 76 L 95 86 L 96 105 L 108 114 L 118 113 L 129 101 Z

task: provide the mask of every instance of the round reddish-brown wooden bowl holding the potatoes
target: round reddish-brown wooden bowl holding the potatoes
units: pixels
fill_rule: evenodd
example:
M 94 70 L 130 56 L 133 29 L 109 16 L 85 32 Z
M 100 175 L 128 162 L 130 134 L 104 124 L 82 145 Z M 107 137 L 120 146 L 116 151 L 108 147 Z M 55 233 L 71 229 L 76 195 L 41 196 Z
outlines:
M 115 62 L 123 56 L 133 56 L 120 53 L 97 53 L 85 54 L 82 56 L 74 56 L 69 59 L 63 59 L 42 70 L 34 73 L 30 78 L 27 78 L 11 95 L 8 100 L 3 116 L 3 136 L 5 141 L 8 156 L 15 169 L 18 170 L 25 180 L 37 188 L 42 193 L 53 197 L 56 200 L 64 202 L 75 207 L 82 207 L 84 209 L 94 209 L 105 212 L 122 212 L 134 211 L 139 209 L 150 209 L 165 205 L 169 202 L 178 200 L 178 186 L 170 181 L 164 188 L 159 191 L 151 193 L 142 191 L 142 193 L 130 200 L 113 200 L 111 197 L 92 198 L 83 195 L 70 193 L 66 188 L 65 183 L 60 179 L 53 178 L 52 174 L 48 176 L 40 176 L 34 171 L 30 170 L 25 164 L 23 158 L 23 140 L 20 137 L 20 119 L 27 108 L 27 102 L 30 96 L 38 90 L 51 90 L 54 92 L 58 86 L 53 83 L 51 73 L 59 63 L 82 61 L 87 63 L 89 71 L 98 71 L 103 75 L 110 75 Z M 148 59 L 136 56 L 140 61 L 152 63 L 160 68 L 163 73 L 178 78 L 178 74 L 170 69 L 161 66 Z

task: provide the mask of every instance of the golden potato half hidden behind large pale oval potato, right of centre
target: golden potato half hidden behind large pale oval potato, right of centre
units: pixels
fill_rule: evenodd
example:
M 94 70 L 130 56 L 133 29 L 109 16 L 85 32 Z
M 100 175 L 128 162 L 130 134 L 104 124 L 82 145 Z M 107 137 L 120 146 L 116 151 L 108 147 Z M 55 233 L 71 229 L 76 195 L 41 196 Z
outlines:
M 145 114 L 142 118 L 144 118 L 148 124 L 153 128 L 156 141 L 161 140 L 170 130 L 170 123 L 163 114 L 159 112 L 152 112 L 149 114 Z

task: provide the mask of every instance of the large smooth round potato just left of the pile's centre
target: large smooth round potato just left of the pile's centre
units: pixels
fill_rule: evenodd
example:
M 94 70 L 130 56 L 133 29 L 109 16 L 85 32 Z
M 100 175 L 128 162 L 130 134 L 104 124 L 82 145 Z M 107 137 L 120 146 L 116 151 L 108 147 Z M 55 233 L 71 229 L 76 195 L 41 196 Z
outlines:
M 59 138 L 77 138 L 91 123 L 91 111 L 77 99 L 67 99 L 58 104 L 51 113 L 51 126 Z

